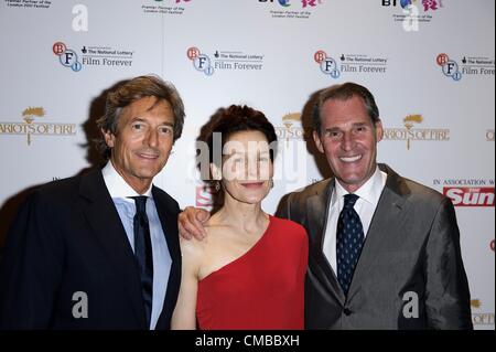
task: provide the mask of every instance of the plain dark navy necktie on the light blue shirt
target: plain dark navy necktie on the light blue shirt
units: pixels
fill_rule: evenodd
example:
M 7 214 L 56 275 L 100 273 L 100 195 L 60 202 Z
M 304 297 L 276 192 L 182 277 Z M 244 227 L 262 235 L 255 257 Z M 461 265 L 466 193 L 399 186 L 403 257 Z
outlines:
M 147 196 L 131 196 L 136 203 L 134 228 L 134 256 L 141 279 L 141 294 L 143 296 L 147 322 L 150 326 L 152 297 L 153 297 L 153 255 L 150 238 L 150 226 L 147 216 Z

